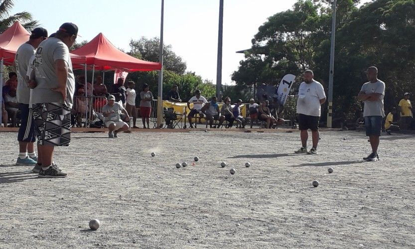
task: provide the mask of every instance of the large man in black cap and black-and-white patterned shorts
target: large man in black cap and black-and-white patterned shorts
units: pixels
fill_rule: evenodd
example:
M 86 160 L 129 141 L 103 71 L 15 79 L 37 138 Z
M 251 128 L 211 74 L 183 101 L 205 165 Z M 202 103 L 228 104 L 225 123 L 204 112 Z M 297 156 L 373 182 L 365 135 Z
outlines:
M 40 157 L 39 177 L 66 177 L 53 164 L 55 146 L 68 146 L 71 140 L 71 108 L 75 92 L 75 77 L 69 48 L 75 43 L 78 27 L 66 22 L 55 37 L 39 44 L 33 61 L 36 82 L 31 103 L 36 126 Z M 33 73 L 32 73 L 33 75 Z

